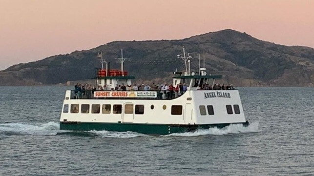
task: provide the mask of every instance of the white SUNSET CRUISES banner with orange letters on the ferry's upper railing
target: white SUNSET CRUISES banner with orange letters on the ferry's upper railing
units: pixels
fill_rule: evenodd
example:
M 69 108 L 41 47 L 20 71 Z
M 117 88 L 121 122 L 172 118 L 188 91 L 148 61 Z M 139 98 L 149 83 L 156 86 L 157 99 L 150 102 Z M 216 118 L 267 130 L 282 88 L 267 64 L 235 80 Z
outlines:
M 154 91 L 96 91 L 94 92 L 94 98 L 157 98 L 157 92 Z

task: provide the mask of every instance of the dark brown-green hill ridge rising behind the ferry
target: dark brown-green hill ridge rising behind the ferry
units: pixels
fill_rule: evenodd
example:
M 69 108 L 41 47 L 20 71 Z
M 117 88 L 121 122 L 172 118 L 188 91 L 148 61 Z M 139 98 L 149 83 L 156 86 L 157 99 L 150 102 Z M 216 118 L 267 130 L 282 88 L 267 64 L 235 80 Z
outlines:
M 113 41 L 94 49 L 20 63 L 0 71 L 0 85 L 64 83 L 95 77 L 100 67 L 97 52 L 102 50 L 110 68 L 120 68 L 120 49 L 128 58 L 125 68 L 141 81 L 169 81 L 185 46 L 192 56 L 191 68 L 198 70 L 198 55 L 206 53 L 209 74 L 222 74 L 223 82 L 237 86 L 313 86 L 314 49 L 284 46 L 255 39 L 246 33 L 222 30 L 178 40 Z

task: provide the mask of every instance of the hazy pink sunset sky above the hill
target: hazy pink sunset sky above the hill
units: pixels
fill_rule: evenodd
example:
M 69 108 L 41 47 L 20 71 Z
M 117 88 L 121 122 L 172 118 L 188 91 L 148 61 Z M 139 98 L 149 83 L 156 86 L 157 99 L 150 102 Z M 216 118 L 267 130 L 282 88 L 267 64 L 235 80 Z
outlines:
M 114 40 L 223 29 L 314 48 L 314 0 L 0 0 L 0 70 Z

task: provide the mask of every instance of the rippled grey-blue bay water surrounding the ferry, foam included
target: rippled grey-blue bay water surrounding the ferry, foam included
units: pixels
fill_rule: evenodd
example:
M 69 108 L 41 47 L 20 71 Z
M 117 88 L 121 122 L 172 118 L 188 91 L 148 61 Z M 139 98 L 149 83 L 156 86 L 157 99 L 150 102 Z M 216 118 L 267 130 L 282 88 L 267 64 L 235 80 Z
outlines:
M 239 88 L 248 127 L 59 130 L 67 87 L 0 87 L 0 176 L 313 176 L 314 88 Z

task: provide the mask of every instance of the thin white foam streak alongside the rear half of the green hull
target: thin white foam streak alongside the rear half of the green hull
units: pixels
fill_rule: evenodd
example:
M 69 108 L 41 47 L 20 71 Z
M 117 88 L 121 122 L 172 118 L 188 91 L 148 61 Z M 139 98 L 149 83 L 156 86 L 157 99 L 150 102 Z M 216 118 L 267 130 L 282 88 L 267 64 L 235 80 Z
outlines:
M 131 138 L 131 137 L 140 137 L 140 136 L 146 136 L 141 133 L 136 132 L 109 132 L 109 131 L 88 131 L 90 133 L 94 133 L 96 135 L 99 135 L 101 137 L 108 137 L 108 138 Z

